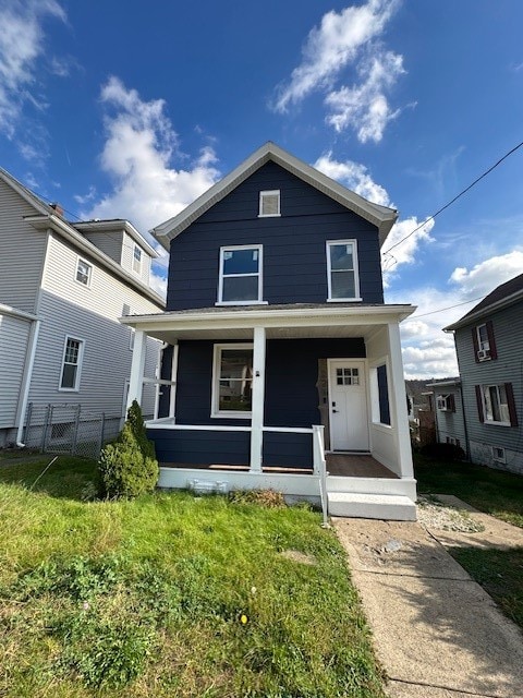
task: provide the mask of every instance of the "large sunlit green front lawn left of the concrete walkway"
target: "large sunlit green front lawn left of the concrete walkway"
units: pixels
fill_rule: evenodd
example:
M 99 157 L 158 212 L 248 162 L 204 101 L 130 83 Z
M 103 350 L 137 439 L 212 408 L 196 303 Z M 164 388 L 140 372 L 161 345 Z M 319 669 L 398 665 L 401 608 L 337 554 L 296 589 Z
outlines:
M 344 553 L 277 497 L 82 501 L 95 464 L 0 464 L 0 695 L 384 698 Z

